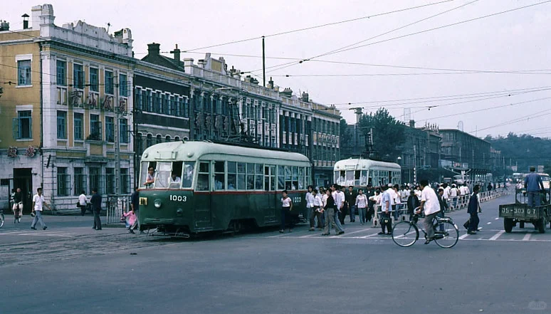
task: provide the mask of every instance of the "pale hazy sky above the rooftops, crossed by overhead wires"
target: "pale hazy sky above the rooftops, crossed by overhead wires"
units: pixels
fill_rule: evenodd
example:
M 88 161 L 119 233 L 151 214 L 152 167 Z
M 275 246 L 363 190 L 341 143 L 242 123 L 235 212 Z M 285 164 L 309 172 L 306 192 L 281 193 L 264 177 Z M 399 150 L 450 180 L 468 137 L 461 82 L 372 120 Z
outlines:
M 266 36 L 266 80 L 334 104 L 349 123 L 355 122 L 351 108 L 369 113 L 384 107 L 418 127 L 462 125 L 478 137 L 508 132 L 551 137 L 551 1 L 49 3 L 58 26 L 83 20 L 106 28 L 110 23 L 110 33 L 130 28 L 137 58 L 147 54 L 147 43 L 160 43 L 165 52 L 177 44 L 187 51 L 182 58 L 224 56 L 229 68 L 250 72 L 261 83 L 259 37 Z M 30 15 L 36 4 L 41 3 L 11 1 L 0 7 L 0 20 L 20 29 L 20 16 Z M 523 6 L 530 7 L 499 14 Z M 249 38 L 255 39 L 243 41 Z M 233 41 L 238 42 L 216 46 Z M 345 46 L 352 49 L 320 56 Z

